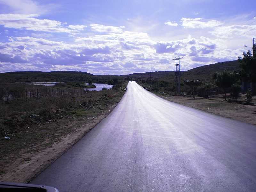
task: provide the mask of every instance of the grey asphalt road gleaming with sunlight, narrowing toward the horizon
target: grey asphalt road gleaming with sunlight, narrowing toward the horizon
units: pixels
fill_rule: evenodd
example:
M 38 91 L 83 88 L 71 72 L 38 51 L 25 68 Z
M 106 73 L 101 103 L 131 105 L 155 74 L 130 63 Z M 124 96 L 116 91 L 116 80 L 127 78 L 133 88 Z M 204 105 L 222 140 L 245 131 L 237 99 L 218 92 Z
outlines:
M 256 127 L 133 82 L 108 117 L 32 183 L 60 192 L 256 191 Z

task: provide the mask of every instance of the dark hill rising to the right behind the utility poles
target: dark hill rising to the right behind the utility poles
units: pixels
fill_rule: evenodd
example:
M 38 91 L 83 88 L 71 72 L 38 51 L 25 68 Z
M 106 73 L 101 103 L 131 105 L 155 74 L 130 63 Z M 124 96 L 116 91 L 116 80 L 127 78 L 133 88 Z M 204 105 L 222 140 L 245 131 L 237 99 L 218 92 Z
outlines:
M 193 68 L 188 71 L 181 71 L 181 80 L 185 79 L 200 79 L 201 81 L 212 81 L 212 75 L 216 72 L 221 71 L 233 71 L 239 70 L 239 62 L 238 60 L 234 61 L 226 61 L 220 63 L 214 63 L 210 65 L 204 65 L 201 67 Z M 151 79 L 154 80 L 159 78 L 159 80 L 164 80 L 168 82 L 173 82 L 175 77 L 175 71 L 156 71 L 150 72 Z M 136 79 L 148 79 L 150 76 L 149 72 L 146 73 L 134 73 L 130 75 L 122 75 L 124 77 L 130 77 L 134 80 Z

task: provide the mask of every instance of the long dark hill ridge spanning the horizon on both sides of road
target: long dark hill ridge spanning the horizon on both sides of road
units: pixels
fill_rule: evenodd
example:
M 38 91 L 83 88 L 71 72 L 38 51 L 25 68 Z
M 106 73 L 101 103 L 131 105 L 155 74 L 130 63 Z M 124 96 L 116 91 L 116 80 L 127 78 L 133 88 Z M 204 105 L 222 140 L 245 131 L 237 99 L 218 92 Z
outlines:
M 227 61 L 221 63 L 214 63 L 211 65 L 204 65 L 201 67 L 193 68 L 188 71 L 181 72 L 181 80 L 185 79 L 200 79 L 202 81 L 211 81 L 212 74 L 223 70 L 233 71 L 239 70 L 239 62 Z M 159 80 L 173 82 L 175 77 L 175 71 L 156 71 L 150 72 L 151 79 L 154 80 L 159 77 Z M 7 72 L 0 73 L 0 82 L 68 82 L 68 81 L 89 81 L 94 83 L 111 83 L 113 79 L 124 79 L 129 77 L 130 79 L 148 79 L 149 72 L 147 73 L 134 73 L 130 75 L 93 75 L 87 72 L 80 71 L 19 71 L 19 72 Z M 127 79 L 129 79 L 127 78 Z

